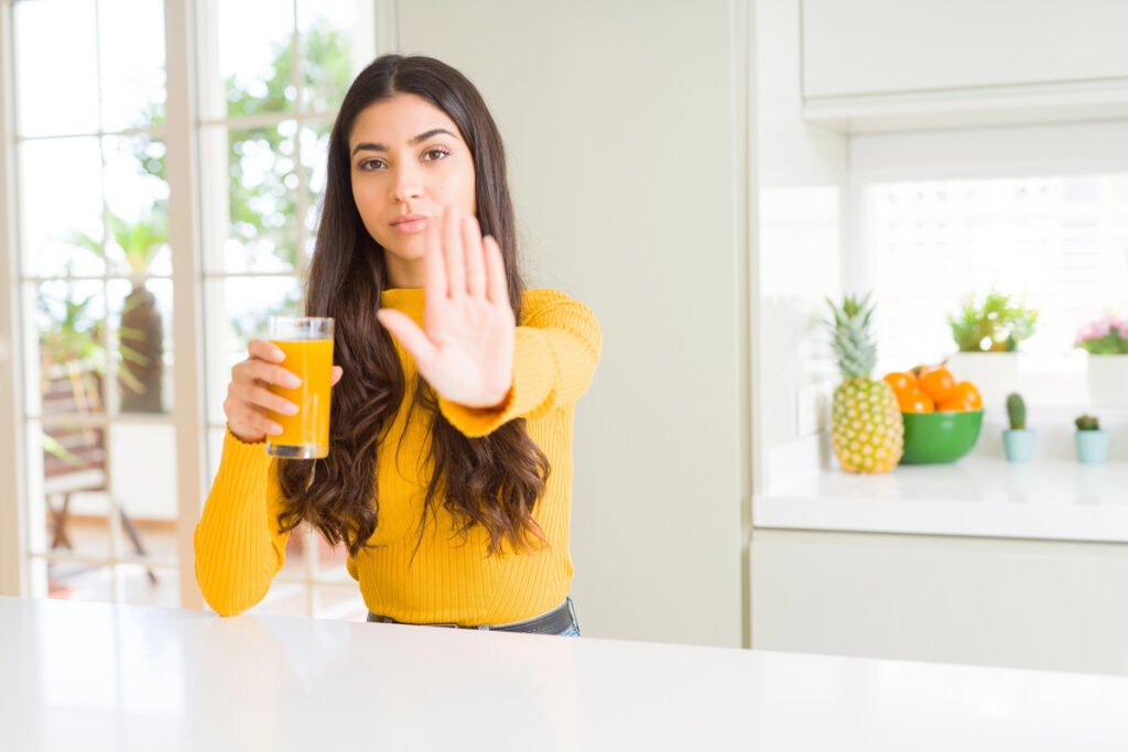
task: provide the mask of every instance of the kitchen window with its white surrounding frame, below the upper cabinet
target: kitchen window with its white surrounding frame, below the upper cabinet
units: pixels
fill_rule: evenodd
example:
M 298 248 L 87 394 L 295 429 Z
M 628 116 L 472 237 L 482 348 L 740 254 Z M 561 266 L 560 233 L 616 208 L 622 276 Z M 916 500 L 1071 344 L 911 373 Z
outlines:
M 994 289 L 1038 311 L 1017 351 L 1028 401 L 1085 407 L 1077 331 L 1128 313 L 1125 135 L 1108 122 L 852 139 L 844 269 L 875 293 L 878 370 L 953 354 L 948 317 Z

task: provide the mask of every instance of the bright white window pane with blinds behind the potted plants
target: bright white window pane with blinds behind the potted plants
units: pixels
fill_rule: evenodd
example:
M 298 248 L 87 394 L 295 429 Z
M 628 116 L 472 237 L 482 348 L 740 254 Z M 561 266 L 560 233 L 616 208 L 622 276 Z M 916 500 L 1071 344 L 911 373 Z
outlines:
M 1042 371 L 1083 370 L 1077 329 L 1128 307 L 1128 172 L 874 183 L 863 212 L 885 370 L 952 352 L 948 315 L 992 287 L 1038 310 Z

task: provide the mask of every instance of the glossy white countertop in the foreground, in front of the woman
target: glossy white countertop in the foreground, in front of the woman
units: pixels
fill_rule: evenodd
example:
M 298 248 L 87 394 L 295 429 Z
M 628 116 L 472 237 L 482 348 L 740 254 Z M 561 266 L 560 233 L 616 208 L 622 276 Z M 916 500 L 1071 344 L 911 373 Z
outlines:
M 1128 679 L 0 598 L 0 747 L 1128 750 Z

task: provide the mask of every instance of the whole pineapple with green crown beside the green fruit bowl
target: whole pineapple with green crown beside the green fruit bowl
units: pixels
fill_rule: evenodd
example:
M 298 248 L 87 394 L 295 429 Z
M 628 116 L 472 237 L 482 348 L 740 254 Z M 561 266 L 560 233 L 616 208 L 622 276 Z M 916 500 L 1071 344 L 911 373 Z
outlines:
M 843 382 L 831 404 L 831 443 L 847 472 L 887 472 L 897 467 L 905 448 L 905 423 L 888 383 L 870 378 L 878 347 L 870 333 L 873 307 L 869 295 L 847 297 L 838 308 L 829 299 L 834 320 L 831 347 Z

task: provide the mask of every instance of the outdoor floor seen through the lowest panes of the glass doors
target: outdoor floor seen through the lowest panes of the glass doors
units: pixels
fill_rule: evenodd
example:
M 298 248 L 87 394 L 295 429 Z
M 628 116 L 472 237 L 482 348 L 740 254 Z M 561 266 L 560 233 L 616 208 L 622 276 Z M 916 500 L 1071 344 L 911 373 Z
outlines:
M 58 549 L 60 554 L 82 554 L 97 557 L 108 556 L 106 525 L 89 520 L 70 520 L 67 525 L 68 538 L 72 550 Z M 173 530 L 139 525 L 139 538 L 147 552 L 161 560 L 176 560 L 177 541 Z M 291 537 L 287 547 L 287 560 L 280 576 L 291 575 L 303 577 L 306 559 L 303 551 L 296 545 L 297 533 Z M 125 551 L 133 552 L 124 531 L 121 545 Z M 340 550 L 331 550 L 321 542 L 319 551 L 320 577 L 340 582 L 334 585 L 318 585 L 310 589 L 303 583 L 280 582 L 275 580 L 266 596 L 247 613 L 280 616 L 314 616 L 326 619 L 344 619 L 363 621 L 368 609 L 360 598 L 356 583 L 344 570 L 344 555 Z M 121 601 L 144 605 L 180 607 L 179 573 L 175 568 L 152 567 L 156 582 L 148 576 L 150 568 L 143 565 L 117 565 Z M 82 601 L 114 600 L 114 572 L 108 566 L 95 566 L 77 561 L 51 561 L 47 566 L 49 593 L 51 598 L 70 598 Z M 310 600 L 314 600 L 312 609 Z

